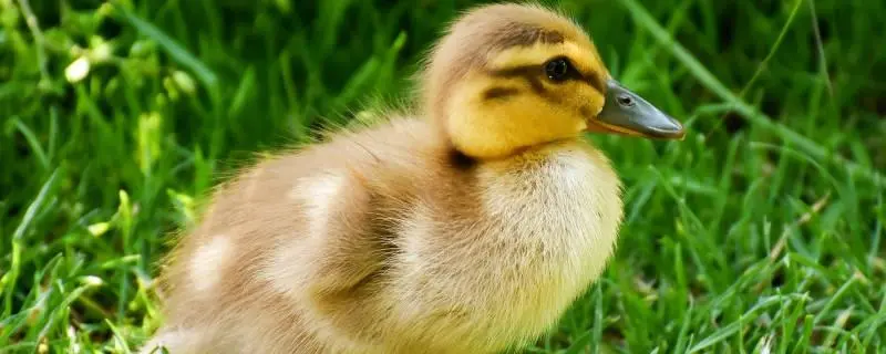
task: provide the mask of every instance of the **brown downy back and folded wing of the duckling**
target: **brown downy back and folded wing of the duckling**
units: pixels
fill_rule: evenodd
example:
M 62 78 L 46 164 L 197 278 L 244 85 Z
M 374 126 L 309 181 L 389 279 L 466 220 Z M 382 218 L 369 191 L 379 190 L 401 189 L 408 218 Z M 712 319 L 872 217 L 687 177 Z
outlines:
M 347 348 L 326 316 L 348 306 L 351 322 L 372 311 L 354 304 L 377 292 L 389 227 L 427 178 L 437 145 L 424 122 L 392 119 L 279 154 L 219 186 L 167 259 L 167 319 L 143 351 Z

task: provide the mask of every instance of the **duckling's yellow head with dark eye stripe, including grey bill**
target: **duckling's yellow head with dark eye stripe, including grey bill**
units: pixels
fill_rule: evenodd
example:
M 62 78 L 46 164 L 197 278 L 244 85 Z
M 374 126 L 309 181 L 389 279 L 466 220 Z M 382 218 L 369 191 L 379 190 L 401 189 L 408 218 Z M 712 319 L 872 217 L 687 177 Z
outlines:
M 530 4 L 464 13 L 429 58 L 424 104 L 462 154 L 494 159 L 585 132 L 682 138 L 683 127 L 614 80 L 590 38 Z

